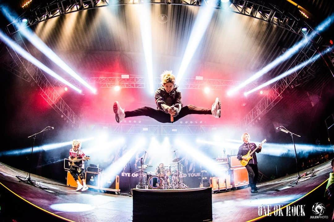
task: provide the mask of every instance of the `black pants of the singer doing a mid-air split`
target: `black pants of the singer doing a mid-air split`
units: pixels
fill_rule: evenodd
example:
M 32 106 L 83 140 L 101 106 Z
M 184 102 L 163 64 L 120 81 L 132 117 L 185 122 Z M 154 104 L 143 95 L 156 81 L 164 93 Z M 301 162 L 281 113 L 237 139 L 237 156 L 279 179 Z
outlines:
M 174 122 L 189 114 L 212 114 L 211 109 L 198 107 L 194 105 L 188 105 L 181 108 L 179 115 L 174 117 Z M 149 116 L 161 123 L 170 123 L 170 114 L 163 112 L 162 110 L 153 109 L 151 107 L 144 106 L 133 111 L 125 111 L 125 118 L 132 116 Z

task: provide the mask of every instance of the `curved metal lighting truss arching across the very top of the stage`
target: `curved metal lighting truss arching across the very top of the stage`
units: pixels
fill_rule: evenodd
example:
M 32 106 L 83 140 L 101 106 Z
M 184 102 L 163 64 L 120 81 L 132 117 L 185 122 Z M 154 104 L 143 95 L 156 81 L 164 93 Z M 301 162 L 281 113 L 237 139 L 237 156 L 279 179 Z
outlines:
M 211 1 L 212 2 L 212 1 Z M 208 5 L 211 4 L 212 7 L 222 10 L 232 11 L 234 13 L 254 17 L 291 32 L 294 32 L 300 36 L 305 36 L 301 31 L 301 26 L 304 25 L 299 22 L 299 19 L 295 18 L 293 15 L 285 14 L 275 7 L 275 5 L 268 4 L 264 6 L 251 1 L 245 0 L 230 0 L 229 3 L 222 3 L 220 0 L 214 3 L 209 3 L 205 0 L 55 0 L 50 3 L 45 3 L 30 9 L 23 13 L 17 18 L 17 21 L 21 21 L 23 18 L 27 19 L 27 26 L 34 25 L 36 23 L 45 21 L 50 18 L 61 16 L 64 14 L 104 7 L 108 5 L 127 5 L 127 4 L 171 4 L 171 5 Z M 307 24 L 306 24 L 307 25 Z M 305 25 L 304 25 L 305 26 Z M 14 27 L 13 23 L 7 26 L 8 32 L 13 34 L 18 30 Z

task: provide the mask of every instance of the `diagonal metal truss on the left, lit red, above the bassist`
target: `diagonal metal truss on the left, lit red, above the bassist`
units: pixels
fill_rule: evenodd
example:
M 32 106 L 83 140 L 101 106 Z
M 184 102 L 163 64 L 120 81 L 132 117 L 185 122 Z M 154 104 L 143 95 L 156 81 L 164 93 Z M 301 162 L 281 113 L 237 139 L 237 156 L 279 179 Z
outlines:
M 19 33 L 13 36 L 14 41 L 22 48 L 28 51 L 23 39 Z M 34 84 L 36 83 L 41 89 L 43 99 L 57 112 L 59 115 L 76 127 L 80 127 L 81 120 L 73 112 L 73 110 L 60 97 L 54 86 L 46 78 L 42 70 L 25 60 L 21 55 L 17 54 L 11 48 L 6 47 L 11 59 L 6 63 L 2 61 L 2 67 L 10 73 L 20 77 L 21 79 Z

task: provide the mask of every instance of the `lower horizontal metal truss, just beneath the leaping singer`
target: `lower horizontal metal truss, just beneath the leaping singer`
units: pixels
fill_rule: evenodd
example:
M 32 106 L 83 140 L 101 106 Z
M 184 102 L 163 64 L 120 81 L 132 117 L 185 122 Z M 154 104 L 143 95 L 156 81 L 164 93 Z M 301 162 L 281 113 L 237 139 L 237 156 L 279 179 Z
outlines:
M 144 124 L 98 124 L 96 127 L 110 129 L 114 134 L 148 135 L 199 135 L 219 128 L 219 125 L 144 125 Z M 222 126 L 221 126 L 222 127 Z M 86 128 L 86 127 L 83 127 Z M 87 128 L 91 126 L 87 125 Z

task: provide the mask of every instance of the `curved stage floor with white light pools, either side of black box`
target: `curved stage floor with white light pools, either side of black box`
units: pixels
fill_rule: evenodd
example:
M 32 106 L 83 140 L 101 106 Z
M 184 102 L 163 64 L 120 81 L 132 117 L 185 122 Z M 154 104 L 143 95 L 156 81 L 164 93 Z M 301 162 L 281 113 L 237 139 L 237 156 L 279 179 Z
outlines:
M 296 176 L 290 175 L 270 182 L 258 184 L 258 193 L 250 193 L 250 188 L 221 192 L 212 195 L 213 221 L 248 221 L 259 217 L 259 205 L 287 205 L 322 183 L 331 172 L 330 162 L 313 168 L 315 173 L 311 178 L 305 178 L 300 183 L 290 184 Z M 300 174 L 311 171 L 303 171 Z M 76 192 L 75 188 L 53 180 L 31 175 L 46 187 L 43 190 L 19 182 L 16 176 L 26 177 L 27 173 L 0 163 L 0 182 L 5 190 L 10 190 L 26 201 L 60 217 L 71 221 L 132 221 L 132 197 L 101 193 L 91 189 Z M 285 190 L 278 189 L 291 186 Z M 121 191 L 122 192 L 122 191 Z M 161 204 L 163 207 L 163 203 Z M 191 205 L 191 201 L 189 201 Z M 313 203 L 312 203 L 313 204 Z M 177 211 L 177 209 L 175 209 Z M 173 212 L 171 212 L 173 213 Z M 168 215 L 162 215 L 168 217 Z M 285 218 L 280 218 L 284 219 Z M 143 220 L 145 221 L 145 220 Z M 159 219 L 157 219 L 159 221 Z

